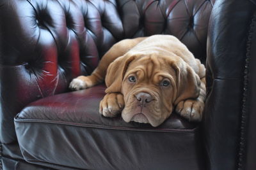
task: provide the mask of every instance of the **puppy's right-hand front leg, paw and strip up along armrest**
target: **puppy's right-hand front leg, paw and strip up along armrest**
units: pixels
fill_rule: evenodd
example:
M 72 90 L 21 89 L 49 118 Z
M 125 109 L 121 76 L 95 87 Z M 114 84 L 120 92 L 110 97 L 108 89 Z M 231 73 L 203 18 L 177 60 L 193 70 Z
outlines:
M 200 122 L 204 111 L 205 90 L 205 78 L 202 78 L 199 96 L 196 99 L 180 101 L 176 106 L 176 112 L 191 122 Z

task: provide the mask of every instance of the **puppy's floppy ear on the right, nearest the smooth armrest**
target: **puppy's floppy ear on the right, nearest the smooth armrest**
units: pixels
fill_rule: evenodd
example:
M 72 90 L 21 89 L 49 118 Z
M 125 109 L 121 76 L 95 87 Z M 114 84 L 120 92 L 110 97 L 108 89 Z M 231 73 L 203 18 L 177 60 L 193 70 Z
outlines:
M 174 104 L 185 99 L 195 99 L 200 92 L 200 78 L 186 62 L 172 63 L 177 77 L 177 93 Z

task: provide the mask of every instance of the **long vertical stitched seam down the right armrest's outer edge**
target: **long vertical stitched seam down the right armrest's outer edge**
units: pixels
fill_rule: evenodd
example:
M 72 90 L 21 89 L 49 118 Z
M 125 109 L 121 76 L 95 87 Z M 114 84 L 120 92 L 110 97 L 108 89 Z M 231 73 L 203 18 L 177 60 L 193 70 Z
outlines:
M 253 14 L 252 22 L 250 24 L 250 29 L 248 32 L 248 39 L 246 43 L 246 59 L 244 65 L 244 85 L 243 85 L 243 101 L 242 101 L 242 113 L 241 113 L 241 122 L 240 122 L 240 141 L 239 141 L 239 153 L 238 153 L 238 163 L 237 169 L 242 170 L 244 169 L 244 159 L 245 159 L 245 148 L 246 148 L 246 124 L 248 115 L 247 112 L 247 94 L 248 94 L 248 68 L 250 66 L 250 51 L 252 45 L 252 37 L 253 37 L 253 30 L 256 24 L 256 13 Z

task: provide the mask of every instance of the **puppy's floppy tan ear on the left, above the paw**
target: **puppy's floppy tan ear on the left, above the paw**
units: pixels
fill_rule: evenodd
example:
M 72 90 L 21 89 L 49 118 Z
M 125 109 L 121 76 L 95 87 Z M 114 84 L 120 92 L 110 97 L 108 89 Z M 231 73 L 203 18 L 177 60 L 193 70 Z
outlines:
M 129 64 L 134 60 L 134 56 L 124 55 L 118 57 L 108 66 L 105 83 L 108 87 L 105 92 L 121 92 L 121 85 L 124 74 Z

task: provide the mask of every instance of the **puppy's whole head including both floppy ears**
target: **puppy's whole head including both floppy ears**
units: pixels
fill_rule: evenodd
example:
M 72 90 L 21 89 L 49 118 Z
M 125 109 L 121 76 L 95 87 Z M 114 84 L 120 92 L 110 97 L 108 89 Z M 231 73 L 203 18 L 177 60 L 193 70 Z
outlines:
M 173 54 L 127 54 L 108 68 L 106 92 L 121 92 L 125 122 L 149 123 L 156 127 L 166 120 L 173 106 L 199 94 L 200 79 L 195 71 Z

